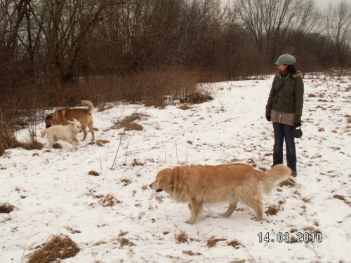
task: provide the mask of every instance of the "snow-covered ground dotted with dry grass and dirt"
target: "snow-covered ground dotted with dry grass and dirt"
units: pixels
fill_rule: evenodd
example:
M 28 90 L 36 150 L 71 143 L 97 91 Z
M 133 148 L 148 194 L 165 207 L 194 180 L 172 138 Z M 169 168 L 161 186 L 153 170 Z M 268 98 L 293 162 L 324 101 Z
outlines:
M 95 137 L 105 140 L 100 146 L 8 149 L 0 157 L 0 203 L 15 210 L 0 214 L 1 262 L 26 262 L 25 255 L 60 234 L 81 248 L 65 263 L 350 262 L 350 77 L 305 79 L 296 184 L 277 186 L 265 198 L 263 222 L 251 220 L 253 210 L 240 203 L 231 217 L 220 217 L 223 203 L 206 206 L 197 224 L 186 224 L 186 204 L 147 187 L 158 170 L 185 164 L 269 169 L 273 133 L 265 103 L 272 78 L 206 84 L 215 99 L 187 110 L 95 109 Z M 143 130 L 111 128 L 135 112 Z M 37 133 L 43 128 L 44 122 Z M 20 140 L 28 137 L 28 130 L 18 132 Z M 286 236 L 298 242 L 281 240 Z M 303 242 L 306 236 L 314 242 Z

